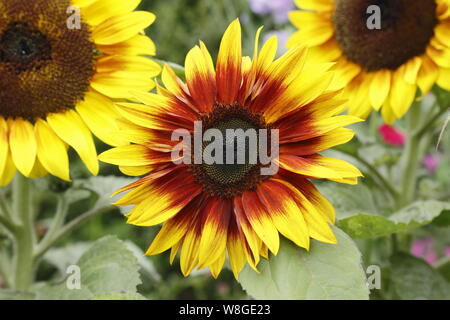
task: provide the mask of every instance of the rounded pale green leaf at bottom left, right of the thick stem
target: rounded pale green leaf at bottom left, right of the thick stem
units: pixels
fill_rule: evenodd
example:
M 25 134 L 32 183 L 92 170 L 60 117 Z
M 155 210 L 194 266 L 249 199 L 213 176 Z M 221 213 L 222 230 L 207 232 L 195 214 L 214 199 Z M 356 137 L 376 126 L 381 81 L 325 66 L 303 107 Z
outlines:
M 127 245 L 113 236 L 95 242 L 78 260 L 80 289 L 70 290 L 66 280 L 59 285 L 44 284 L 34 288 L 38 300 L 84 300 L 105 295 L 131 297 L 141 284 L 139 265 Z

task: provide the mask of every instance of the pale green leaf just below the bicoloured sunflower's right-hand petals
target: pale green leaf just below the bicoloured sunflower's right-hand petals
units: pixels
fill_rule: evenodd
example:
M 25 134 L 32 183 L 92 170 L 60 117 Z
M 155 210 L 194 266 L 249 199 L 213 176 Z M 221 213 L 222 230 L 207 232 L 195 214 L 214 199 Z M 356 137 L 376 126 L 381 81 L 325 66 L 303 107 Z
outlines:
M 372 192 L 362 183 L 355 186 L 320 183 L 317 188 L 333 204 L 338 220 L 360 213 L 378 215 Z

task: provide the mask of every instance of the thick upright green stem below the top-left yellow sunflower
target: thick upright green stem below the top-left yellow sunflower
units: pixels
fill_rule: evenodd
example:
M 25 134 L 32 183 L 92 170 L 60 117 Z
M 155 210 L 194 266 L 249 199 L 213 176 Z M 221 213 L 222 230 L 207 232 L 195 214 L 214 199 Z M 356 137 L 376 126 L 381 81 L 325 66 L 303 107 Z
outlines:
M 31 180 L 20 173 L 13 184 L 13 211 L 20 225 L 15 232 L 14 289 L 26 291 L 33 283 L 34 226 Z

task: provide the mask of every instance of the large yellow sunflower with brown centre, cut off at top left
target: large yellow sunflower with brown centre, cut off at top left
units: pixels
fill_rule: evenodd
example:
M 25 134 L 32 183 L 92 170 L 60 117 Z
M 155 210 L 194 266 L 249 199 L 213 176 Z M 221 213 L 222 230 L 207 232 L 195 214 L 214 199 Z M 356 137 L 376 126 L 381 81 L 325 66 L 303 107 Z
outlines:
M 16 170 L 70 180 L 67 149 L 99 170 L 92 133 L 112 146 L 112 99 L 151 90 L 160 68 L 140 0 L 0 0 L 0 185 Z

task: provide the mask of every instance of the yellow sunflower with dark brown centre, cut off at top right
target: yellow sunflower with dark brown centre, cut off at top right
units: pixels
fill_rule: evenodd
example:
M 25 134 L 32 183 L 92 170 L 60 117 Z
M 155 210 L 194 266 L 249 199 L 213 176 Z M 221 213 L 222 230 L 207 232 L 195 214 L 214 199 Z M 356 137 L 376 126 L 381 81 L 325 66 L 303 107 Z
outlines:
M 435 83 L 450 90 L 449 0 L 296 0 L 300 30 L 288 46 L 311 48 L 336 62 L 336 85 L 346 87 L 349 113 L 365 118 L 381 110 L 392 124 Z M 378 27 L 372 23 L 377 7 Z M 306 11 L 305 11 L 306 10 Z M 369 12 L 369 13 L 368 13 Z M 380 28 L 381 27 L 381 28 Z

